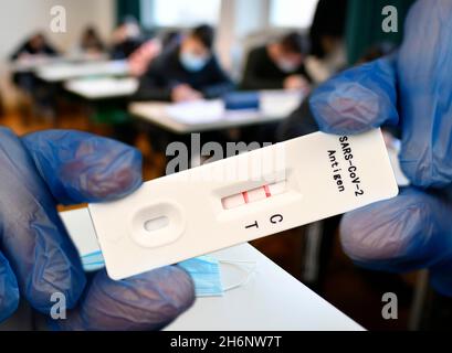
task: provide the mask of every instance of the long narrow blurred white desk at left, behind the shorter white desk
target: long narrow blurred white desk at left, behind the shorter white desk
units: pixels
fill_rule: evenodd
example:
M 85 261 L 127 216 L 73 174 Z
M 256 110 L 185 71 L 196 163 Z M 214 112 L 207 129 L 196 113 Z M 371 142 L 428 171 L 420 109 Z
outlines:
M 61 63 L 39 67 L 36 76 L 46 82 L 63 82 L 87 76 L 124 76 L 129 73 L 125 60 L 99 61 L 87 63 Z

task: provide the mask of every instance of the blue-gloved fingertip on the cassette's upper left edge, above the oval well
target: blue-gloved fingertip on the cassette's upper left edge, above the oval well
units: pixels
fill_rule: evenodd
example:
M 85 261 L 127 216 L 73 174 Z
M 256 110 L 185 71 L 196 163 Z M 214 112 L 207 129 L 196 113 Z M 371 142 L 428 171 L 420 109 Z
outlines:
M 41 176 L 62 204 L 120 199 L 141 184 L 141 154 L 82 131 L 46 130 L 23 138 Z

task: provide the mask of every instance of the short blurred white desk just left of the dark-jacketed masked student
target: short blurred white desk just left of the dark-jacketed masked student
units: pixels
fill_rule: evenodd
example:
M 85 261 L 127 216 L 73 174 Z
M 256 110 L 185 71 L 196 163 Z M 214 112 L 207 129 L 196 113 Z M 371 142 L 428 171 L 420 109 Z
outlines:
M 64 88 L 90 100 L 127 97 L 138 88 L 135 77 L 75 78 L 66 82 Z

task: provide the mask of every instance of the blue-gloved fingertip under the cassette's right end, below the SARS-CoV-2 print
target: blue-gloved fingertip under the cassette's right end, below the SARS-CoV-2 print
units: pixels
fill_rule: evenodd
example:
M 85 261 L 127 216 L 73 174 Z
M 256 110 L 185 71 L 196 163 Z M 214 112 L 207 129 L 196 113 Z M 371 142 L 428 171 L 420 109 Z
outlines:
M 346 214 L 345 253 L 358 265 L 388 271 L 440 266 L 452 259 L 452 202 L 417 189 Z

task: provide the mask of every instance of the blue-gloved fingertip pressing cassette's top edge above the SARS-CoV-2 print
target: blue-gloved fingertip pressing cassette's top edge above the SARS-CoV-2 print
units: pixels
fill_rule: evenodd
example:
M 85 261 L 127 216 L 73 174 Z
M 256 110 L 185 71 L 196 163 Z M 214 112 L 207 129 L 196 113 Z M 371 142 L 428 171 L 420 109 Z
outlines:
M 329 133 L 397 125 L 395 60 L 383 57 L 338 74 L 314 90 L 309 106 L 319 129 Z

